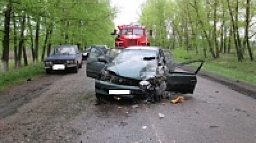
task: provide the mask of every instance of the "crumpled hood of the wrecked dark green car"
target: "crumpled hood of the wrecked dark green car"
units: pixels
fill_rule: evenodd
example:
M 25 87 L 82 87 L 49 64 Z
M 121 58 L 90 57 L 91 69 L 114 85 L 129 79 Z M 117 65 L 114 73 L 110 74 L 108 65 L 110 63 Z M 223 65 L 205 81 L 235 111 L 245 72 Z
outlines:
M 156 75 L 157 61 L 127 60 L 118 64 L 112 62 L 108 64 L 107 70 L 123 77 L 146 80 Z

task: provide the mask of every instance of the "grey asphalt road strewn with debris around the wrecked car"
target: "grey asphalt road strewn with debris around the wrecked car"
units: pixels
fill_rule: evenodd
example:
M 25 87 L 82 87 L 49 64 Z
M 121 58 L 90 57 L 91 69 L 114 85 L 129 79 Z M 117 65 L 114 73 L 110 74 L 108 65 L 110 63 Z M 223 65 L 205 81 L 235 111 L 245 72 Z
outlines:
M 85 66 L 78 74 L 42 78 L 45 87 L 24 92 L 33 98 L 1 117 L 0 143 L 256 143 L 255 99 L 202 77 L 194 94 L 181 95 L 181 104 L 163 99 L 138 107 L 129 101 L 96 104 L 94 80 L 85 77 Z

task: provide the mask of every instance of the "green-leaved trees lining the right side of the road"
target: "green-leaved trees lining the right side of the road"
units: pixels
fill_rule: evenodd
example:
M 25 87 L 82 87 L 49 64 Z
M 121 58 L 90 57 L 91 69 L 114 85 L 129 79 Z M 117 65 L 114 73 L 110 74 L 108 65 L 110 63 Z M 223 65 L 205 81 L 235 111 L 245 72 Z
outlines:
M 147 0 L 141 10 L 139 22 L 154 31 L 153 45 L 254 60 L 255 0 Z

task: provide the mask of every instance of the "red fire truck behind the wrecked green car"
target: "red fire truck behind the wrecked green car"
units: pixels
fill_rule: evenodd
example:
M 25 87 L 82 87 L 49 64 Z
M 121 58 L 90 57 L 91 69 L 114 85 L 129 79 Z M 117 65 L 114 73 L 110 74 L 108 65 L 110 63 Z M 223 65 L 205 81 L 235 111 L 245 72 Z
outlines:
M 128 46 L 149 46 L 150 42 L 147 37 L 147 30 L 144 26 L 140 24 L 128 24 L 128 25 L 118 25 L 118 33 L 117 30 L 114 30 L 111 35 L 117 35 L 115 38 L 115 46 L 116 47 L 124 47 Z M 152 35 L 152 30 L 150 30 L 150 35 Z

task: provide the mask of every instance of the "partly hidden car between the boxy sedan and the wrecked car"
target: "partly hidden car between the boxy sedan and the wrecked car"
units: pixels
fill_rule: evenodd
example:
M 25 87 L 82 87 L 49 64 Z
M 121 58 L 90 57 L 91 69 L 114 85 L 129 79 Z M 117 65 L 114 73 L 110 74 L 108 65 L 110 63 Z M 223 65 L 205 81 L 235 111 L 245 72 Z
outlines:
M 87 60 L 91 51 L 105 54 L 108 50 L 109 47 L 107 45 L 91 45 L 87 49 L 83 50 L 81 53 L 83 56 L 83 60 Z

